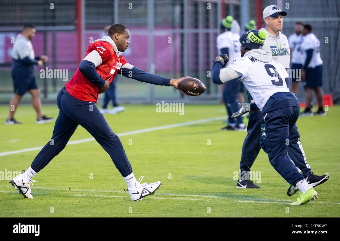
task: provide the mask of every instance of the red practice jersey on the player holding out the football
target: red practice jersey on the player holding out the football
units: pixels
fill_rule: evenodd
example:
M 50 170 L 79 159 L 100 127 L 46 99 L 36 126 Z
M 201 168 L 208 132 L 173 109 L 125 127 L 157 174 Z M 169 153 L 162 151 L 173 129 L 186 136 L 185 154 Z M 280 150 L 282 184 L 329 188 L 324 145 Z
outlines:
M 111 40 L 113 42 L 113 40 Z M 114 44 L 114 43 L 113 43 Z M 86 56 L 92 51 L 97 51 L 101 57 L 101 63 L 96 67 L 96 70 L 104 80 L 108 80 L 109 83 L 113 81 L 121 67 L 126 64 L 125 58 L 121 55 L 117 55 L 117 47 L 108 42 L 96 40 L 88 47 Z M 84 75 L 77 69 L 77 72 L 72 76 L 71 80 L 66 83 L 65 88 L 68 93 L 74 98 L 82 101 L 97 102 L 100 87 L 89 81 Z

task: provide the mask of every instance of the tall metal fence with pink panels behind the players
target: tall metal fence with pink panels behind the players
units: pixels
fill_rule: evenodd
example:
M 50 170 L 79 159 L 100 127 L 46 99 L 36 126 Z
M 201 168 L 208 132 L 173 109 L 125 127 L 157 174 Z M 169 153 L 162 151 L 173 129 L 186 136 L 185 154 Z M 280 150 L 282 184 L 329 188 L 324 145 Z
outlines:
M 11 50 L 13 38 L 26 23 L 36 25 L 32 40 L 36 55 L 47 54 L 44 69 L 67 69 L 68 80 L 78 68 L 77 2 L 82 4 L 82 54 L 91 41 L 104 35 L 104 27 L 125 24 L 131 33 L 130 46 L 122 55 L 143 70 L 179 78 L 190 75 L 200 79 L 207 91 L 198 97 L 187 97 L 172 88 L 141 83 L 118 77 L 117 94 L 120 103 L 154 103 L 159 100 L 219 103 L 221 88 L 211 82 L 212 59 L 217 55 L 216 37 L 222 17 L 230 14 L 241 25 L 241 12 L 246 5 L 245 19 L 256 19 L 253 0 L 16 0 L 0 1 L 0 102 L 8 103 L 13 95 Z M 247 4 L 244 5 L 244 2 Z M 287 5 L 288 3 L 288 5 Z M 283 33 L 293 33 L 295 21 L 313 26 L 313 33 L 321 42 L 323 89 L 340 102 L 340 18 L 338 0 L 262 0 L 262 10 L 276 4 L 288 13 L 284 17 Z M 287 9 L 288 6 L 288 9 Z M 243 9 L 242 9 L 243 8 Z M 222 11 L 224 12 L 222 13 Z M 243 16 L 244 22 L 244 16 Z M 262 20 L 262 27 L 264 23 Z M 328 38 L 328 43 L 325 38 Z M 82 55 L 83 56 L 83 55 Z M 65 85 L 60 79 L 36 79 L 43 102 L 55 102 L 58 91 Z M 299 99 L 304 99 L 300 85 Z M 102 96 L 100 95 L 100 99 Z M 26 94 L 23 101 L 29 102 Z M 99 100 L 101 103 L 101 100 Z

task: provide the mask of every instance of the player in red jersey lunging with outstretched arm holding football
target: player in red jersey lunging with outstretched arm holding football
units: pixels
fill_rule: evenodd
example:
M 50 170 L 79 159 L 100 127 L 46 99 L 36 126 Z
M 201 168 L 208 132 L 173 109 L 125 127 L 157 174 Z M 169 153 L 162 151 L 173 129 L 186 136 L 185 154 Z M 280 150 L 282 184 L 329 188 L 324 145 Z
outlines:
M 32 177 L 65 148 L 78 125 L 83 126 L 110 155 L 128 185 L 127 191 L 132 201 L 141 200 L 159 188 L 160 181 L 141 184 L 142 177 L 136 180 L 119 137 L 113 133 L 95 103 L 98 95 L 109 88 L 117 73 L 146 83 L 171 85 L 178 90 L 178 83 L 189 76 L 167 79 L 127 63 L 118 51 L 124 52 L 128 48 L 129 36 L 125 25 L 114 24 L 108 36 L 95 40 L 88 47 L 77 72 L 57 96 L 59 115 L 51 140 L 41 149 L 28 170 L 10 182 L 24 197 L 33 198 L 30 188 Z

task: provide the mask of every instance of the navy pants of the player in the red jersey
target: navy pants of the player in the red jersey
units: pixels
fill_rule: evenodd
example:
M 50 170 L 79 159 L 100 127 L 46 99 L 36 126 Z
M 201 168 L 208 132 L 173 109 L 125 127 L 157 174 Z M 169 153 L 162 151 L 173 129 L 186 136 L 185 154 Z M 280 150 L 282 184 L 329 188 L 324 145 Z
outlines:
M 63 88 L 64 91 L 65 88 Z M 35 172 L 43 169 L 66 146 L 78 125 L 83 126 L 110 155 L 115 166 L 126 177 L 132 173 L 128 157 L 119 137 L 113 133 L 100 113 L 95 102 L 81 101 L 64 93 L 58 93 L 59 115 L 54 124 L 53 136 L 34 158 L 31 168 Z M 53 144 L 52 144 L 53 143 Z

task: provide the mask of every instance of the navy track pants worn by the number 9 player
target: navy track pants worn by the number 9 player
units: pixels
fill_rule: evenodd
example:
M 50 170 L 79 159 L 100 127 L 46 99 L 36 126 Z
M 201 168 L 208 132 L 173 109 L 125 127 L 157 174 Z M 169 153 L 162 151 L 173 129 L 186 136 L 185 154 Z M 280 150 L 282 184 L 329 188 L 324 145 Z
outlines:
M 268 154 L 269 162 L 289 184 L 296 186 L 304 176 L 297 171 L 288 156 L 289 140 L 295 137 L 294 127 L 300 107 L 287 106 L 262 114 L 261 147 Z

